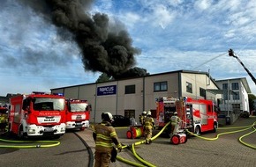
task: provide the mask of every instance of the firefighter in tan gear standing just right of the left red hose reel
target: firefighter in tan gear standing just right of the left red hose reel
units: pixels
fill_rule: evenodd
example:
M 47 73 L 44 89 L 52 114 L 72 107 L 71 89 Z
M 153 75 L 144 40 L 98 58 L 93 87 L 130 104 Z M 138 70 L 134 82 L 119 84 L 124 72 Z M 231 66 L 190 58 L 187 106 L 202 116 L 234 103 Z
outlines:
M 151 112 L 147 112 L 147 117 L 144 120 L 144 136 L 146 140 L 146 144 L 150 144 L 152 137 L 152 129 L 155 128 L 154 119 L 151 116 Z

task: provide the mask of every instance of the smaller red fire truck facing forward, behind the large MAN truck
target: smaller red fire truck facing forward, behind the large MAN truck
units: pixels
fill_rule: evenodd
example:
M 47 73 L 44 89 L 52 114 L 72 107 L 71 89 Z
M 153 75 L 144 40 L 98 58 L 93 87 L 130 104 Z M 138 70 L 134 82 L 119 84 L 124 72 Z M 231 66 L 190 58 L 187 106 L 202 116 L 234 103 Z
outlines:
M 87 100 L 66 99 L 66 128 L 89 127 L 91 105 Z

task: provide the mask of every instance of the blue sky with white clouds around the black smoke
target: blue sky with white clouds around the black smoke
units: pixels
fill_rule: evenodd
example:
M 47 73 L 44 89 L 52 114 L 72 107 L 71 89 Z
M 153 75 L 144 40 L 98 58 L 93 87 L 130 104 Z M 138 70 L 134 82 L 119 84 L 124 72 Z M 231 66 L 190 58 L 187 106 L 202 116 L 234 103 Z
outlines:
M 0 96 L 94 83 L 102 72 L 88 66 L 92 63 L 85 61 L 86 49 L 22 1 L 1 1 Z M 81 9 L 91 18 L 96 13 L 107 16 L 109 32 L 125 30 L 135 50 L 128 56 L 132 62 L 126 60 L 128 68 L 147 69 L 149 74 L 209 71 L 215 80 L 246 77 L 256 94 L 252 78 L 228 54 L 232 48 L 256 76 L 253 0 L 94 0 Z

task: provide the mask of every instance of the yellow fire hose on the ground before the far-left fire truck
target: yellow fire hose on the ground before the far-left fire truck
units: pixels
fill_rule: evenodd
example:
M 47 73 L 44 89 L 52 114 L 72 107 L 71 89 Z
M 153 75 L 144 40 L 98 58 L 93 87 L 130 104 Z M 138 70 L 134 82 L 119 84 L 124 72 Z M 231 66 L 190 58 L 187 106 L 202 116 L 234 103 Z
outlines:
M 50 148 L 55 147 L 60 144 L 57 141 L 12 141 L 7 139 L 1 139 L 1 142 L 10 142 L 10 143 L 37 143 L 34 145 L 0 145 L 0 148 L 12 148 L 12 149 L 35 149 L 35 148 Z

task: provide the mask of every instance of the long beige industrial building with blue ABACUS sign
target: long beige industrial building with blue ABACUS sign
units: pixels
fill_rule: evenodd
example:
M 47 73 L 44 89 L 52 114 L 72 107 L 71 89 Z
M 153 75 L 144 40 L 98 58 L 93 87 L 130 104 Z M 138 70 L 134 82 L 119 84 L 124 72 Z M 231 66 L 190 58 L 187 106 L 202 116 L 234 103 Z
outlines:
M 139 114 L 156 110 L 159 97 L 206 98 L 217 102 L 220 87 L 207 72 L 177 70 L 103 83 L 79 84 L 54 88 L 65 98 L 87 99 L 92 105 L 91 122 L 100 122 L 102 112 L 124 115 L 139 121 Z

